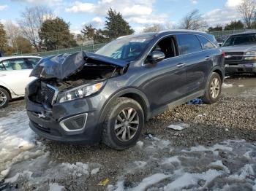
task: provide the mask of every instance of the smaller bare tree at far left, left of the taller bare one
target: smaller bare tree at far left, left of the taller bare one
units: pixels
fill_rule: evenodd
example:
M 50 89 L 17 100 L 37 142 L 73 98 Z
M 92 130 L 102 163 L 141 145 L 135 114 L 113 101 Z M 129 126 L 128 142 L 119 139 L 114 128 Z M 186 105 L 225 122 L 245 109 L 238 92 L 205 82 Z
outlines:
M 18 52 L 19 44 L 18 44 L 18 36 L 20 36 L 20 27 L 12 23 L 12 20 L 7 20 L 4 23 L 4 27 L 7 31 L 7 36 L 10 39 L 10 44 L 12 45 L 13 49 Z

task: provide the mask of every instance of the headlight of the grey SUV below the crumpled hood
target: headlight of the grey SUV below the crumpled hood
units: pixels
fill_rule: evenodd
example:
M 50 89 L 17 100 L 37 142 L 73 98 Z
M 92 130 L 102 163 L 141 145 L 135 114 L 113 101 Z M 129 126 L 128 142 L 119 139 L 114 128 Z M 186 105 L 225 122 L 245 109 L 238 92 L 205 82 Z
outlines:
M 71 90 L 67 90 L 64 93 L 59 94 L 58 96 L 59 103 L 62 103 L 65 101 L 71 101 L 78 98 L 84 98 L 91 94 L 97 93 L 99 90 L 102 89 L 103 85 L 104 85 L 104 82 L 99 82 L 97 84 L 82 85 L 79 87 L 75 87 Z

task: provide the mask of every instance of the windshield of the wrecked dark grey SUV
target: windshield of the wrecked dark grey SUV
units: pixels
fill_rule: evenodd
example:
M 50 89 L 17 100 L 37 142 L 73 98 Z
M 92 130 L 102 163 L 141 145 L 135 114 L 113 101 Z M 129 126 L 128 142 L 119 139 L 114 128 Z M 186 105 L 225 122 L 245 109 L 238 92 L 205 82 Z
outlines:
M 122 61 L 135 61 L 146 49 L 151 39 L 153 39 L 153 36 L 117 39 L 108 43 L 96 53 Z

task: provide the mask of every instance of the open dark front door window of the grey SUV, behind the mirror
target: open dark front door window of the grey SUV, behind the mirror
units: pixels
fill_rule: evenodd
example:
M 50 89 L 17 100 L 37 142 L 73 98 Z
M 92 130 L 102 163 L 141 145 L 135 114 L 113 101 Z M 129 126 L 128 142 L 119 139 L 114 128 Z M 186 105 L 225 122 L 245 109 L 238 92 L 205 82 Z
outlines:
M 176 43 L 173 37 L 160 40 L 154 47 L 154 50 L 164 52 L 165 58 L 172 58 L 177 55 Z

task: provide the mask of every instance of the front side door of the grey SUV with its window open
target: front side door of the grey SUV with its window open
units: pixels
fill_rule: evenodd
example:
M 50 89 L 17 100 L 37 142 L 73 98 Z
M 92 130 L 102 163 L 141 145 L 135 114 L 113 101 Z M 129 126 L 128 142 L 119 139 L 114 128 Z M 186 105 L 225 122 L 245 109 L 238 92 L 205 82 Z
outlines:
M 146 93 L 151 110 L 164 110 L 167 104 L 184 98 L 187 93 L 187 71 L 174 36 L 160 40 L 153 50 L 165 53 L 165 59 L 157 63 L 147 63 L 145 70 L 148 80 L 142 89 Z

